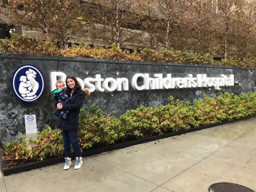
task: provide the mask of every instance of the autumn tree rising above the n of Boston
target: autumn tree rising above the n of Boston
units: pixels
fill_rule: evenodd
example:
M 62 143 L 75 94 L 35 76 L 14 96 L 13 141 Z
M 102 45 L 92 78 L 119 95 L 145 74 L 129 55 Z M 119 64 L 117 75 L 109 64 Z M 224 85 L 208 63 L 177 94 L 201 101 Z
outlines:
M 99 38 L 120 44 L 131 38 L 136 31 L 136 15 L 132 11 L 135 4 L 132 0 L 90 0 L 91 19 L 96 23 L 95 32 Z M 106 37 L 109 36 L 109 37 Z

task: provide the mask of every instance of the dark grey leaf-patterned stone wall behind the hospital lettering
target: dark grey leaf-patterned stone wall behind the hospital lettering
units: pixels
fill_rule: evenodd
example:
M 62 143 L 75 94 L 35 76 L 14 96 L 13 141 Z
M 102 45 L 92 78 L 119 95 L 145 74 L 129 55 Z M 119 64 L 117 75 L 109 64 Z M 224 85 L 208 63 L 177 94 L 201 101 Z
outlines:
M 33 103 L 20 101 L 15 97 L 11 88 L 12 74 L 24 64 L 35 65 L 45 78 L 44 93 Z M 116 116 L 120 116 L 128 109 L 135 109 L 139 105 L 165 105 L 169 102 L 170 95 L 175 99 L 193 102 L 194 99 L 202 99 L 202 93 L 216 97 L 223 91 L 239 94 L 253 92 L 256 89 L 256 68 L 0 53 L 0 143 L 17 139 L 20 134 L 25 133 L 25 114 L 36 114 L 38 130 L 43 129 L 45 125 L 54 128 L 56 118 L 53 116 L 53 111 L 55 107 L 50 90 L 50 72 L 52 71 L 64 72 L 66 75 L 73 74 L 81 79 L 95 77 L 95 74 L 101 74 L 101 78 L 104 79 L 107 77 L 127 78 L 129 91 L 113 91 L 112 93 L 95 91 L 84 102 L 87 109 L 95 103 L 97 108 L 101 108 L 105 113 L 116 111 Z M 87 71 L 88 75 L 86 75 Z M 241 86 L 221 87 L 222 90 L 196 87 L 138 91 L 131 86 L 132 76 L 136 73 L 149 73 L 151 77 L 157 73 L 162 73 L 163 77 L 167 73 L 172 74 L 172 77 L 186 77 L 188 74 L 193 74 L 194 77 L 196 74 L 207 74 L 208 77 L 234 74 L 235 81 L 239 81 Z

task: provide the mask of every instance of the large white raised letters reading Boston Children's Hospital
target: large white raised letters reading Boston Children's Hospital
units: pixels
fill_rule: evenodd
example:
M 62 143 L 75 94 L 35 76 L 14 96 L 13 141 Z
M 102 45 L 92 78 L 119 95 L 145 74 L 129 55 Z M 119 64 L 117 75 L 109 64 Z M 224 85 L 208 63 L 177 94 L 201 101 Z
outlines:
M 54 90 L 57 80 L 65 82 L 67 75 L 63 72 L 51 72 L 51 89 Z M 91 92 L 97 90 L 103 91 L 128 91 L 129 80 L 127 78 L 105 78 L 101 74 L 95 77 L 84 79 L 77 78 L 82 87 L 87 87 Z M 220 75 L 219 77 L 207 77 L 206 74 L 197 74 L 193 77 L 188 74 L 187 77 L 172 77 L 172 74 L 149 74 L 138 73 L 132 76 L 131 86 L 136 90 L 154 90 L 154 89 L 175 89 L 175 88 L 195 88 L 195 87 L 214 87 L 219 89 L 222 86 L 234 86 L 234 75 Z

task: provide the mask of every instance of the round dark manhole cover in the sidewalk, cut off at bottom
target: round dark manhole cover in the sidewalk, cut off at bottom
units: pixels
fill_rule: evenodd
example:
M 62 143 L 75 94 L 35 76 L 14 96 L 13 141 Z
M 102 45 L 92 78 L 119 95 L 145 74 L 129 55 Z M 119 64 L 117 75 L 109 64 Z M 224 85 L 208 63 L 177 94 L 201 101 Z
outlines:
M 231 182 L 219 182 L 209 187 L 209 192 L 255 192 L 248 187 Z

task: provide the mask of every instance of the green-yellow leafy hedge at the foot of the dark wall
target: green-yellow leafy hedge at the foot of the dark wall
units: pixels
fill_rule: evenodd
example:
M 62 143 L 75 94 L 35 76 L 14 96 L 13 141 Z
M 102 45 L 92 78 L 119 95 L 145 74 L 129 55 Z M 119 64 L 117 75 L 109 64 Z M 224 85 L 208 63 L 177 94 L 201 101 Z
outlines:
M 127 110 L 119 118 L 114 112 L 104 114 L 92 105 L 88 111 L 84 108 L 79 114 L 79 143 L 81 150 L 93 146 L 107 146 L 115 142 L 141 139 L 166 132 L 189 129 L 201 125 L 220 123 L 223 120 L 238 119 L 256 113 L 256 93 L 224 93 L 216 98 L 203 94 L 203 100 L 183 102 L 170 96 L 167 105 Z M 8 166 L 29 161 L 43 160 L 60 156 L 64 146 L 60 129 L 52 130 L 48 125 L 38 132 L 37 140 L 30 140 L 37 147 L 26 146 L 26 136 L 4 144 L 4 158 Z

